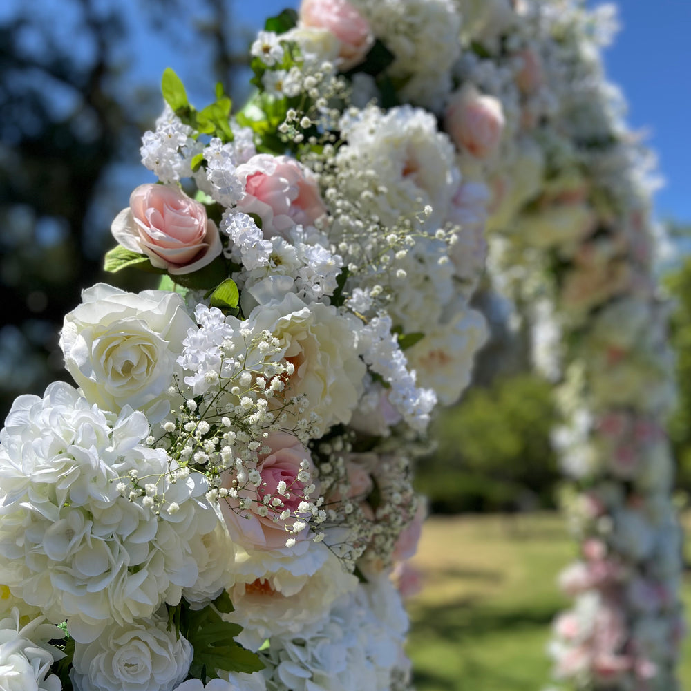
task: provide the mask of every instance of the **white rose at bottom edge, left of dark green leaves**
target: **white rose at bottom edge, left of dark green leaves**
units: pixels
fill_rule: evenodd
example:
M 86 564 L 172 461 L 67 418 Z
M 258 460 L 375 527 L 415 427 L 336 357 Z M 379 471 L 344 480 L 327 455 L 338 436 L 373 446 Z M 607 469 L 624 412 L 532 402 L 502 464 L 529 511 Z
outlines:
M 111 625 L 92 643 L 75 646 L 75 691 L 169 691 L 189 670 L 192 647 L 163 621 Z

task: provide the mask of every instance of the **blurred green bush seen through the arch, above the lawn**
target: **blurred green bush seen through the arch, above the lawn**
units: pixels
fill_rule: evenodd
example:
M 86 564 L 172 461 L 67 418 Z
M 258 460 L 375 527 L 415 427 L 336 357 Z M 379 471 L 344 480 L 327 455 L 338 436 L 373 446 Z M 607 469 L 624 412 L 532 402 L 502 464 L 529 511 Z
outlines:
M 556 422 L 552 386 L 536 375 L 473 388 L 435 423 L 439 444 L 418 472 L 418 487 L 433 510 L 447 513 L 551 506 Z

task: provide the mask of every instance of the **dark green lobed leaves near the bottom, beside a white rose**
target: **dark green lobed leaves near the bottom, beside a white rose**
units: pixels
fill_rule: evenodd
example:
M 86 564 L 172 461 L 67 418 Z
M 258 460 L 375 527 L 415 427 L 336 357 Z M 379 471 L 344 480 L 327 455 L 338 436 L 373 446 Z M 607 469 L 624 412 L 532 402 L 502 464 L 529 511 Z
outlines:
M 217 679 L 218 672 L 258 672 L 264 669 L 259 656 L 234 641 L 242 630 L 239 624 L 223 621 L 222 614 L 233 611 L 227 592 L 203 609 L 189 609 L 184 603 L 168 609 L 168 628 L 187 638 L 194 650 L 190 679 Z

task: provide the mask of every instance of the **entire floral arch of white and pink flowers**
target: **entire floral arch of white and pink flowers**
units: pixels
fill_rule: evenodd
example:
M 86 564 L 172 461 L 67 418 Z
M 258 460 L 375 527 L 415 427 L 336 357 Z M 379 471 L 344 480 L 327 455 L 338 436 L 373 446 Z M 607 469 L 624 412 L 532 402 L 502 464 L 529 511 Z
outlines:
M 486 227 L 565 371 L 556 441 L 587 489 L 557 673 L 673 688 L 670 361 L 602 12 L 304 0 L 252 43 L 242 108 L 166 70 L 158 183 L 105 263 L 158 290 L 85 290 L 60 340 L 79 388 L 19 397 L 0 433 L 8 688 L 411 688 L 413 466 L 488 335 Z

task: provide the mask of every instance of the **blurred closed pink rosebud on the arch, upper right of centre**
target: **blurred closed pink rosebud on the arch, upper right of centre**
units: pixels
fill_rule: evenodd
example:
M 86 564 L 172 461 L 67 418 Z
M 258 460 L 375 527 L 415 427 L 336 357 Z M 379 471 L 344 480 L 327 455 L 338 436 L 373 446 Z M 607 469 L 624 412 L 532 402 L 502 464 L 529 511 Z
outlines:
M 497 150 L 504 122 L 500 100 L 481 94 L 472 84 L 452 95 L 444 115 L 444 128 L 457 148 L 482 159 Z

